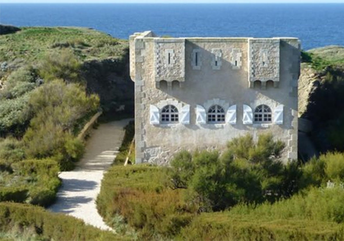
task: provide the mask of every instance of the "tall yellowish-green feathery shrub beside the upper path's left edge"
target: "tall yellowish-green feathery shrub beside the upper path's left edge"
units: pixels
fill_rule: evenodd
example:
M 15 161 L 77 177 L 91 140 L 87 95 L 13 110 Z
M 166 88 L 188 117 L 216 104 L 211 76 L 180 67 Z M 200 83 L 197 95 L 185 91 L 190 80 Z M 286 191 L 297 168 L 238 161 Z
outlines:
M 99 97 L 88 96 L 79 84 L 56 80 L 37 88 L 29 103 L 35 115 L 23 137 L 26 155 L 55 156 L 61 170 L 71 169 L 84 151 L 83 143 L 73 135 L 74 128 L 84 116 L 97 111 Z

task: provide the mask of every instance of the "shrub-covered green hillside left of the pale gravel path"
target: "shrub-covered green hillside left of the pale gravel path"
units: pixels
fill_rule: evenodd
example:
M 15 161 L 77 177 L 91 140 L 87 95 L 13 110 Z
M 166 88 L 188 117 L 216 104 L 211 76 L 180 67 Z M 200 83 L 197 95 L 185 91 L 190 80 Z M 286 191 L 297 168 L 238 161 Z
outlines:
M 57 174 L 82 156 L 77 135 L 100 107 L 85 61 L 111 57 L 119 67 L 126 55 L 125 41 L 90 29 L 0 35 L 0 201 L 54 201 Z

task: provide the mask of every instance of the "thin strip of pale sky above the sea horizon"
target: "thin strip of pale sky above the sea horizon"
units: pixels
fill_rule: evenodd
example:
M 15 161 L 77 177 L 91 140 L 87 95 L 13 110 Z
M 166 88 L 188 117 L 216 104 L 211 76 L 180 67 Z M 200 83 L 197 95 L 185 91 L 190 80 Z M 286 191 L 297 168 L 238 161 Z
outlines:
M 0 3 L 344 3 L 344 0 L 0 0 Z

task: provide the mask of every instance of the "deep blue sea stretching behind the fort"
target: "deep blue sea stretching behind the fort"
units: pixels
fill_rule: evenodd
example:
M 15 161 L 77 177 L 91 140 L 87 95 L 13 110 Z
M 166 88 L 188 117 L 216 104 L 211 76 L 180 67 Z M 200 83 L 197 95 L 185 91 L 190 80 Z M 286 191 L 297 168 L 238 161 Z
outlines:
M 344 4 L 0 4 L 0 22 L 82 26 L 128 39 L 158 35 L 298 37 L 307 50 L 344 45 Z

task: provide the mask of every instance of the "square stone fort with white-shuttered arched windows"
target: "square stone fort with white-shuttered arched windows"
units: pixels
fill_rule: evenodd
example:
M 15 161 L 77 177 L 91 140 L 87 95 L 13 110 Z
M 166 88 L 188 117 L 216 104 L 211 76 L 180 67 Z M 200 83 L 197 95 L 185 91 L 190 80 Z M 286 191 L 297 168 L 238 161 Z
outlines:
M 136 163 L 166 164 L 182 149 L 224 148 L 270 132 L 297 158 L 297 38 L 130 36 Z

